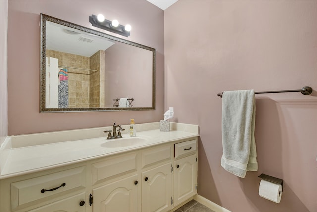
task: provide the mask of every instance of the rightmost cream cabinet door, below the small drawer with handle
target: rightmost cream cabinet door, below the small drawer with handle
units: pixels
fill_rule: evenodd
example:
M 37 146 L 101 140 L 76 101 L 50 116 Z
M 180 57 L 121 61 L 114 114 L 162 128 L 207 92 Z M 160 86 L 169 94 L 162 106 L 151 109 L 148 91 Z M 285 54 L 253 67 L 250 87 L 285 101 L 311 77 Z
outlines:
M 175 160 L 174 167 L 174 205 L 176 206 L 197 193 L 196 155 Z

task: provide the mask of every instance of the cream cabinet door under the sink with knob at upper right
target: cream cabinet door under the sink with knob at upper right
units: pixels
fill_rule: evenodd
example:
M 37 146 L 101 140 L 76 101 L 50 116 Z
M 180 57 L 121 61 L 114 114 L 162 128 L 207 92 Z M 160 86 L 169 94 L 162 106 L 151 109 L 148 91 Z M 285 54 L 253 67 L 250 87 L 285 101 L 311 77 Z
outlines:
M 135 174 L 93 189 L 93 212 L 140 211 L 139 184 Z

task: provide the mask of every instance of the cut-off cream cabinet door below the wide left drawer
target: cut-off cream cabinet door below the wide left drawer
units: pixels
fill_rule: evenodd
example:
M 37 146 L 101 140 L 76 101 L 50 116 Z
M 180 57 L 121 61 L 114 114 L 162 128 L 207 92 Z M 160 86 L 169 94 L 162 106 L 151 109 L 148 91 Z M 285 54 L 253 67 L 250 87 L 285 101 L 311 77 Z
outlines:
M 36 208 L 27 212 L 86 212 L 85 193 Z

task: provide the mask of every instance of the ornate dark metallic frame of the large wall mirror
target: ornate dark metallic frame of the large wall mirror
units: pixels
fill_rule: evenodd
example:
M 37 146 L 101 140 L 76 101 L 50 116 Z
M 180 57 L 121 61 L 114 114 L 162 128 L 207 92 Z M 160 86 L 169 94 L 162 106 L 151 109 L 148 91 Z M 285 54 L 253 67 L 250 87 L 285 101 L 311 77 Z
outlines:
M 91 33 L 94 35 L 98 35 L 107 39 L 111 39 L 114 41 L 122 42 L 128 45 L 136 46 L 142 49 L 149 50 L 153 53 L 152 57 L 152 107 L 111 107 L 111 108 L 46 108 L 46 21 L 50 21 L 53 23 L 57 23 L 63 26 L 67 26 L 70 28 L 74 28 L 77 30 L 84 31 L 86 33 Z M 132 41 L 128 41 L 125 39 L 121 39 L 115 36 L 108 35 L 106 33 L 90 29 L 84 26 L 80 26 L 68 21 L 64 21 L 58 18 L 54 18 L 49 15 L 45 15 L 41 13 L 41 34 L 40 34 L 40 112 L 89 112 L 89 111 L 133 111 L 133 110 L 155 110 L 155 55 L 156 50 L 154 48 L 144 46 Z

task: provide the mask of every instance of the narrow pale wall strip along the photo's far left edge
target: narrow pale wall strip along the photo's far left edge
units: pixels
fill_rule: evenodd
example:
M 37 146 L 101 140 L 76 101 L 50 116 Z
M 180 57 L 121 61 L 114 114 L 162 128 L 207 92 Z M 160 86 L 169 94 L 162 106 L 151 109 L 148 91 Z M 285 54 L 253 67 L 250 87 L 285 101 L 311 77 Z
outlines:
M 7 21 L 8 1 L 0 1 L 0 146 L 8 135 Z

